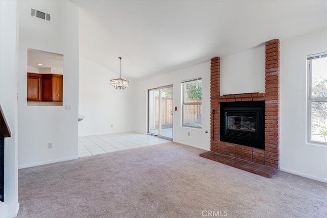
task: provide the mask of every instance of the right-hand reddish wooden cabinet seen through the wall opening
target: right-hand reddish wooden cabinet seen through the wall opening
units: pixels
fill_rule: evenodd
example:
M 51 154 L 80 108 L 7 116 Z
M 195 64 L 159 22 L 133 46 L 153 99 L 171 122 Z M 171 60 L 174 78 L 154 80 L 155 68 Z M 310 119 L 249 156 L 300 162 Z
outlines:
M 42 74 L 42 102 L 62 102 L 62 75 Z

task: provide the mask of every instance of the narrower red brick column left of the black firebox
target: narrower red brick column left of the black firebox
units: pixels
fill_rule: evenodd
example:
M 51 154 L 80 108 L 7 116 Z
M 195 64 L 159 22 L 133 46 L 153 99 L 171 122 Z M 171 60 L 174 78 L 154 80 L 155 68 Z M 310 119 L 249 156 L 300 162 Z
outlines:
M 220 58 L 215 57 L 211 59 L 210 67 L 210 106 L 211 106 L 211 151 L 218 152 L 218 140 L 220 140 L 220 103 L 218 103 L 218 96 L 220 96 Z M 215 109 L 215 114 L 213 110 Z

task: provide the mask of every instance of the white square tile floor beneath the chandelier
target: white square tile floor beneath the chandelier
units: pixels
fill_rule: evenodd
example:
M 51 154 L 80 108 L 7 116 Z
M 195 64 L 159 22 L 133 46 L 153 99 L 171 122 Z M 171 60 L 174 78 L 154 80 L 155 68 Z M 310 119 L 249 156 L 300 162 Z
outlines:
M 152 146 L 165 142 L 170 141 L 136 132 L 82 136 L 78 137 L 78 157 Z

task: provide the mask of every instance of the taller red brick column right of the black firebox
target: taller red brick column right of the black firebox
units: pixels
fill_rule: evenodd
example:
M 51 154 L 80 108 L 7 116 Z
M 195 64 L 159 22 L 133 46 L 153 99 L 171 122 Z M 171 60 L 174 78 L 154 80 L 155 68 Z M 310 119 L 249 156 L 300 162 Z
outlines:
M 279 40 L 266 42 L 265 165 L 279 168 Z

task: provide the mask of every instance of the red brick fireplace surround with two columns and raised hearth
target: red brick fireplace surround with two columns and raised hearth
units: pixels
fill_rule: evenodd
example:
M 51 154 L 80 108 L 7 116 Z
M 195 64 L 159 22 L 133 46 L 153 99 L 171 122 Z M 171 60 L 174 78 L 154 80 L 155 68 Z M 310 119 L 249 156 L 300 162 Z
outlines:
M 211 59 L 211 151 L 201 157 L 271 178 L 279 169 L 279 39 L 266 42 L 265 93 L 220 95 L 220 58 Z M 220 140 L 220 103 L 265 101 L 265 149 Z M 215 114 L 212 111 L 215 110 Z

